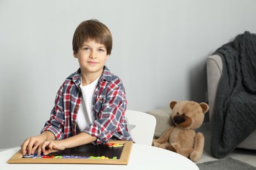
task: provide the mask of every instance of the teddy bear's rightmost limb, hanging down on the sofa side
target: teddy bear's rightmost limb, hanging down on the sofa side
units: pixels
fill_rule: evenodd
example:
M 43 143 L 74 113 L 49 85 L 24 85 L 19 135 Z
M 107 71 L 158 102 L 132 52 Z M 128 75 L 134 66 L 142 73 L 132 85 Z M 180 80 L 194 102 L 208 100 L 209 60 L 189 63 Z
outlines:
M 202 157 L 204 146 L 204 136 L 203 133 L 198 132 L 195 136 L 194 150 L 190 154 L 190 160 L 198 161 Z

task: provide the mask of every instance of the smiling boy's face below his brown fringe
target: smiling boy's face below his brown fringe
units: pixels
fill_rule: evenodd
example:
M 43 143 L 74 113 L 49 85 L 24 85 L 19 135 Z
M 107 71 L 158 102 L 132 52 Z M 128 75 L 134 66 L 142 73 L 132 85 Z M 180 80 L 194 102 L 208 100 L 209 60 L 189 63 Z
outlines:
M 74 57 L 78 59 L 82 73 L 100 76 L 109 55 L 104 44 L 88 40 L 83 42 L 77 53 L 74 52 Z

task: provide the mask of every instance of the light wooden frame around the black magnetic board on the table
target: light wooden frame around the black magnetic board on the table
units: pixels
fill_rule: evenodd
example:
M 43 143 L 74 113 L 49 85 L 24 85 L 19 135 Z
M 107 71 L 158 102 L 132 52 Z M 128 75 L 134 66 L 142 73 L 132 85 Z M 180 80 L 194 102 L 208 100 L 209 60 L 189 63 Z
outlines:
M 127 165 L 133 141 L 110 141 L 109 143 L 123 144 L 121 156 L 116 160 L 81 159 L 81 158 L 23 158 L 21 149 L 7 163 L 74 163 L 74 164 L 117 164 Z

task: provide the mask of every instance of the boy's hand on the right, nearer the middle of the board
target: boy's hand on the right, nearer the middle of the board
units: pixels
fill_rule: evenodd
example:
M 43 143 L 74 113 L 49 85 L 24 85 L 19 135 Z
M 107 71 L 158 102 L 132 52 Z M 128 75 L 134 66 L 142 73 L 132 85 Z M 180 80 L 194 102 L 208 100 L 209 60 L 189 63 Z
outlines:
M 41 146 L 39 146 L 37 154 L 40 155 L 43 153 L 44 155 L 48 155 L 64 149 L 65 147 L 63 146 L 62 141 L 45 141 Z

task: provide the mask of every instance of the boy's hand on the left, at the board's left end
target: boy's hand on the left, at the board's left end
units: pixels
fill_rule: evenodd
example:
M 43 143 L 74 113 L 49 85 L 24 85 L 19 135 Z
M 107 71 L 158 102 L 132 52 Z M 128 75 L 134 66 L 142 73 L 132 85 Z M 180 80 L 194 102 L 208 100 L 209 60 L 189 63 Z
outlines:
M 29 137 L 22 143 L 22 154 L 34 154 L 37 148 L 47 139 L 43 135 L 38 135 L 34 137 Z

